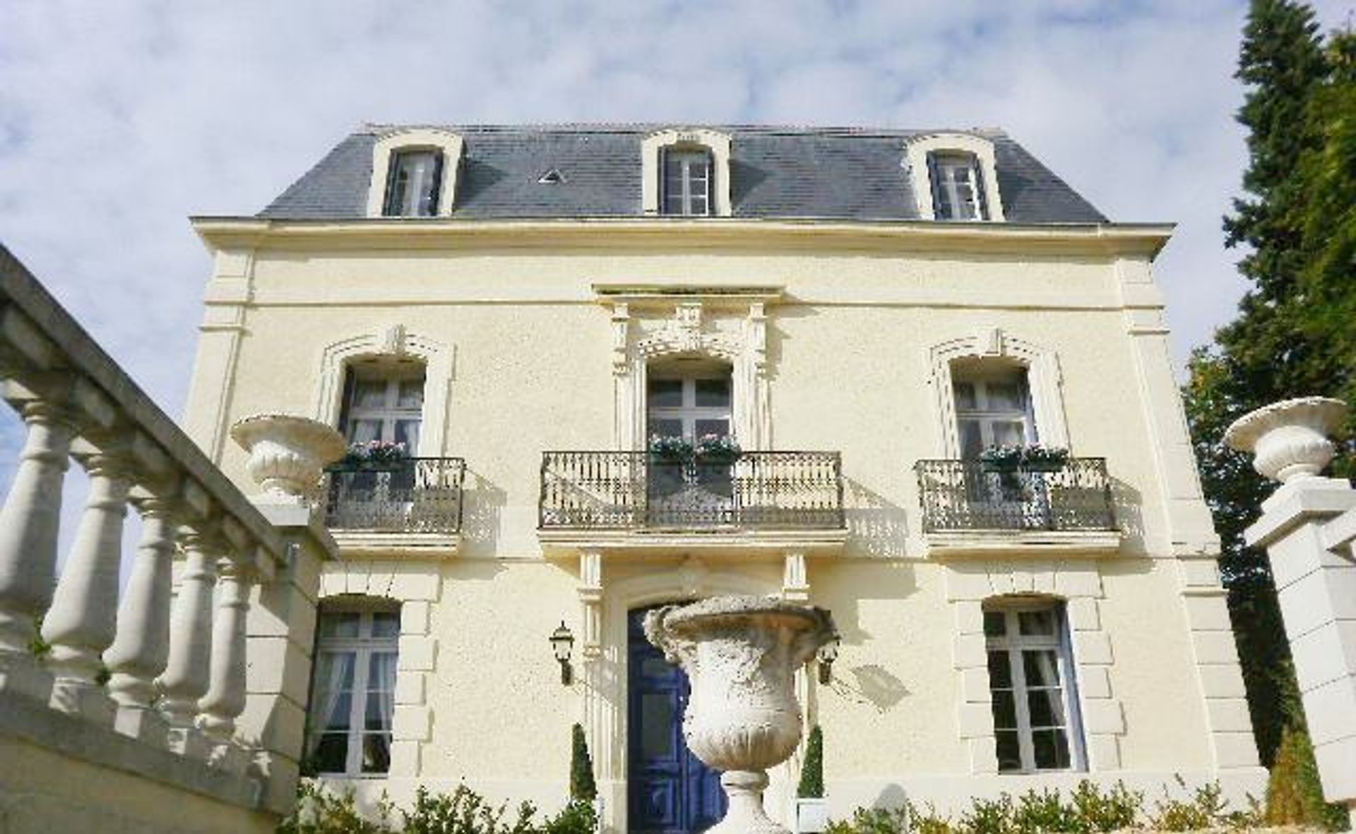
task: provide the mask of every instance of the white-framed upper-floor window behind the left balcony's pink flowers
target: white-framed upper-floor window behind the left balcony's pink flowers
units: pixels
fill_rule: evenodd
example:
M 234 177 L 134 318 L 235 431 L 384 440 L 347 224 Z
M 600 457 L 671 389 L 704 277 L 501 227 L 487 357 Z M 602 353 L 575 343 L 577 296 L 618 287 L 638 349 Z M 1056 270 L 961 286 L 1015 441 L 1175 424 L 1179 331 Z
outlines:
M 419 452 L 424 368 L 419 363 L 357 363 L 348 367 L 342 433 L 348 443 L 404 443 Z

